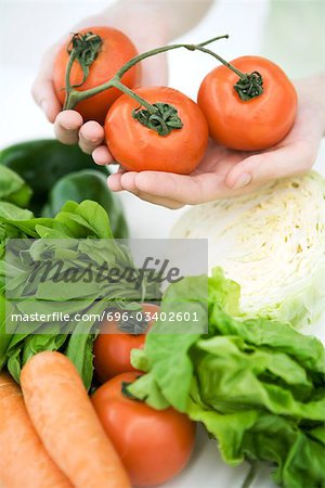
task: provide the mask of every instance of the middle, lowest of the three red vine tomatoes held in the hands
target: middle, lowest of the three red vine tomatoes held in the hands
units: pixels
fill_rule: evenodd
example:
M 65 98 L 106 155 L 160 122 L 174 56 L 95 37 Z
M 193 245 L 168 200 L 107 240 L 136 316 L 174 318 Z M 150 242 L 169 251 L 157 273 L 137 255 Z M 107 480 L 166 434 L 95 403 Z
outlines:
M 132 117 L 139 103 L 128 95 L 120 97 L 109 108 L 105 120 L 106 143 L 115 160 L 133 171 L 192 172 L 208 143 L 208 126 L 200 108 L 172 88 L 139 88 L 135 93 L 152 104 L 172 105 L 183 127 L 168 136 L 159 136 Z

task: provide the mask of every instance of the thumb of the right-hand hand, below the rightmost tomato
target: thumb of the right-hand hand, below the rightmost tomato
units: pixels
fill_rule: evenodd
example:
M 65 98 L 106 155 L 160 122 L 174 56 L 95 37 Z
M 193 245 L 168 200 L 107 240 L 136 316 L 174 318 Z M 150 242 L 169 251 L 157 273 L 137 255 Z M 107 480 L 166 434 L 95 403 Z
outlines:
M 303 141 L 266 153 L 255 154 L 234 166 L 225 178 L 229 189 L 239 190 L 266 181 L 298 175 L 311 165 L 310 149 Z

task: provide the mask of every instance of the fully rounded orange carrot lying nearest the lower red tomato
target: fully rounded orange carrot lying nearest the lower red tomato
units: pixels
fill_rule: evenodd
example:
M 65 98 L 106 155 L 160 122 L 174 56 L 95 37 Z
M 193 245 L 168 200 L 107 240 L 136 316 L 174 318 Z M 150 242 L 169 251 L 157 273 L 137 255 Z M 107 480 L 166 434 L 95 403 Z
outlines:
M 34 356 L 23 368 L 25 403 L 46 449 L 76 488 L 129 488 L 72 361 L 60 352 Z

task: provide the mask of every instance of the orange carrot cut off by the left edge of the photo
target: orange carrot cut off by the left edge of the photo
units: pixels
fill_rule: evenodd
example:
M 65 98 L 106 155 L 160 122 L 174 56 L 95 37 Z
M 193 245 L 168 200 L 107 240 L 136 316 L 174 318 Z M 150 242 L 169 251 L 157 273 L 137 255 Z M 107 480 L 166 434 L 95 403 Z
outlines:
M 5 373 L 0 373 L 0 486 L 72 488 L 43 448 L 20 387 Z

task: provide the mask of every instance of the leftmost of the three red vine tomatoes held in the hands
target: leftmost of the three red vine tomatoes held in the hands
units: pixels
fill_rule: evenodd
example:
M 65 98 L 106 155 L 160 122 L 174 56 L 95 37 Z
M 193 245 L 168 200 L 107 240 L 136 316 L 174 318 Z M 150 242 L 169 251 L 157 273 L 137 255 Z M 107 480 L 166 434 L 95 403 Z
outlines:
M 103 44 L 98 57 L 90 66 L 87 80 L 81 87 L 76 88 L 79 91 L 88 90 L 108 81 L 123 64 L 138 55 L 136 49 L 131 40 L 117 29 L 112 27 L 89 27 L 80 30 L 81 34 L 89 31 L 98 34 L 102 38 Z M 53 84 L 62 105 L 65 100 L 65 70 L 69 59 L 67 52 L 69 42 L 70 38 L 58 50 L 53 68 Z M 121 81 L 129 88 L 134 87 L 138 81 L 139 69 L 139 65 L 129 69 L 121 78 Z M 78 85 L 81 81 L 82 69 L 80 64 L 75 61 L 70 73 L 70 82 L 72 85 Z M 121 92 L 119 90 L 109 88 L 102 93 L 80 102 L 76 111 L 82 115 L 84 120 L 98 120 L 103 124 L 108 107 L 120 94 Z

